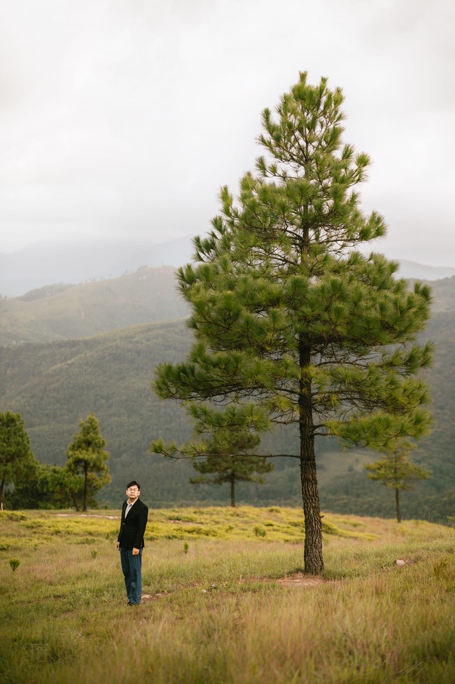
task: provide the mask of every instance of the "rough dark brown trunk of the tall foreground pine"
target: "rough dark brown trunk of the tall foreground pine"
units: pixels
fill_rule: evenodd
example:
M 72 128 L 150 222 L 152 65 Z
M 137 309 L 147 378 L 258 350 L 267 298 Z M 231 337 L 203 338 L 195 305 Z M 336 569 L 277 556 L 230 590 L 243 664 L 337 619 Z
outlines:
M 310 363 L 310 350 L 301 345 L 301 368 Z M 320 575 L 324 570 L 322 552 L 321 507 L 319 505 L 316 456 L 314 455 L 313 413 L 310 383 L 300 382 L 299 396 L 300 476 L 303 514 L 305 516 L 305 572 Z

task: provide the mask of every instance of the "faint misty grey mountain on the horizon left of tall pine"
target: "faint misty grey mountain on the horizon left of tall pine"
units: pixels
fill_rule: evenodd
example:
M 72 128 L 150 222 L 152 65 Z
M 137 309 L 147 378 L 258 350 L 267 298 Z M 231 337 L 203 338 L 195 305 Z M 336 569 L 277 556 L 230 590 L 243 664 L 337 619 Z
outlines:
M 0 295 L 20 296 L 53 283 L 116 278 L 140 266 L 174 266 L 192 257 L 192 237 L 152 243 L 138 240 L 41 242 L 0 254 Z

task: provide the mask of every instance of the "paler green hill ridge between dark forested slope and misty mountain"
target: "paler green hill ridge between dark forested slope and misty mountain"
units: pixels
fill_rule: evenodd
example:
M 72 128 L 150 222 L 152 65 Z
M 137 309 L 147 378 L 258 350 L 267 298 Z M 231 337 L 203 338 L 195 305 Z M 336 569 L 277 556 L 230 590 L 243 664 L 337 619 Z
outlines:
M 0 345 L 92 337 L 188 314 L 170 266 L 82 285 L 48 285 L 0 299 Z

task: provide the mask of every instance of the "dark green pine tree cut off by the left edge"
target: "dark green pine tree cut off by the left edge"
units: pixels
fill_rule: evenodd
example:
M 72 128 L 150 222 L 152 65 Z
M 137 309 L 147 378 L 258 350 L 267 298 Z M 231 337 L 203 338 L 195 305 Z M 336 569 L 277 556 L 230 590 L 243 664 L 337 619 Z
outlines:
M 20 485 L 34 462 L 22 416 L 11 411 L 0 413 L 0 510 L 6 485 Z

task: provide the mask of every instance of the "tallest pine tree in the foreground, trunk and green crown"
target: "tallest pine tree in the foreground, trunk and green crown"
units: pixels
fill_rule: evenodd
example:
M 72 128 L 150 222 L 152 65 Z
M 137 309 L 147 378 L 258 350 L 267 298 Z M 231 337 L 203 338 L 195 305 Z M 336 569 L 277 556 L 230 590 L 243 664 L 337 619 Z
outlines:
M 154 389 L 190 406 L 206 432 L 223 425 L 299 430 L 305 572 L 323 571 L 314 439 L 378 448 L 430 425 L 416 343 L 430 291 L 395 279 L 398 264 L 356 250 L 385 234 L 356 185 L 369 158 L 343 144 L 340 89 L 299 82 L 263 112 L 265 157 L 221 190 L 221 214 L 178 273 L 192 314 L 188 361 L 160 365 Z M 221 410 L 220 410 L 221 408 Z

